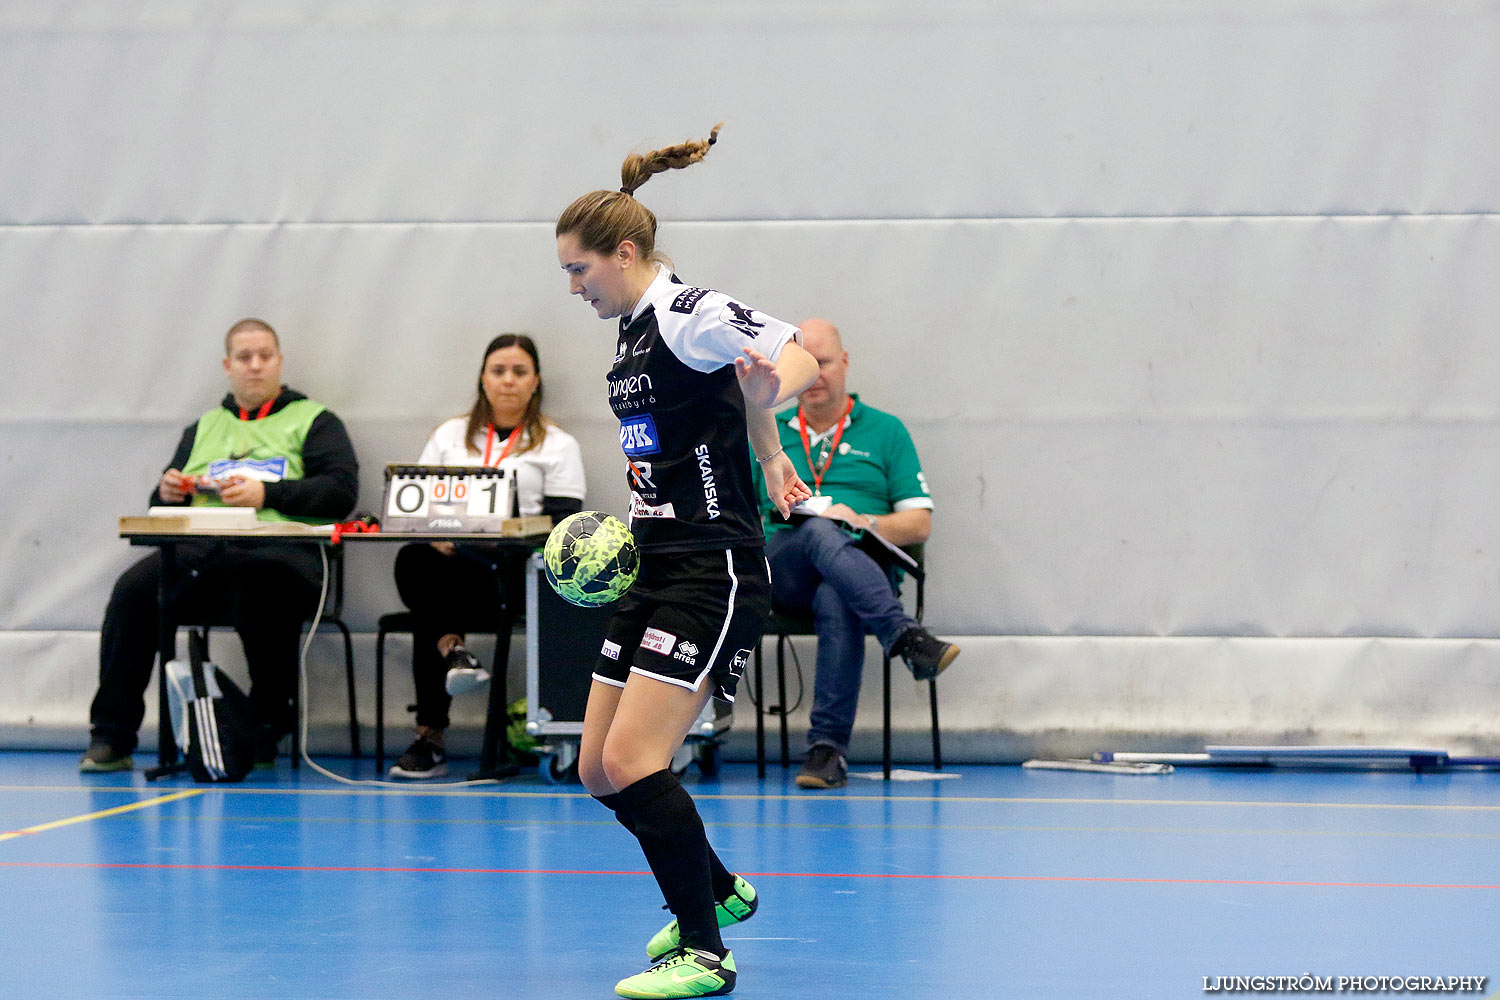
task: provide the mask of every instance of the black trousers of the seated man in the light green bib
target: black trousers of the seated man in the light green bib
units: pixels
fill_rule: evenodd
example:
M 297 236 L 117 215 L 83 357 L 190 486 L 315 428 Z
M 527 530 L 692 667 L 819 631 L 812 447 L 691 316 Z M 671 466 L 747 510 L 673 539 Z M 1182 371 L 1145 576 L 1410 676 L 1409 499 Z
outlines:
M 146 717 L 146 687 L 156 666 L 158 586 L 153 552 L 114 582 L 99 640 L 99 691 L 88 708 L 94 738 L 129 753 Z M 322 567 L 316 546 L 177 546 L 170 619 L 231 625 L 244 643 L 250 705 L 278 736 L 294 724 L 297 643 L 318 606 Z

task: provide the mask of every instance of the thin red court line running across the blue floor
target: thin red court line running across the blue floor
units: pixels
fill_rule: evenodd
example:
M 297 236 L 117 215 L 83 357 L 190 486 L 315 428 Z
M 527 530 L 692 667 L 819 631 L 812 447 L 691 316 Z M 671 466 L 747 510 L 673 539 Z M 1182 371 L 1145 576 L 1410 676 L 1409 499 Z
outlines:
M 290 873 L 357 873 L 357 874 L 441 874 L 441 876 L 648 876 L 648 871 L 615 871 L 609 868 L 406 868 L 376 865 L 168 865 L 146 862 L 93 861 L 0 861 L 0 868 L 126 868 L 144 871 L 290 871 Z M 756 879 L 906 879 L 921 882 L 1076 882 L 1089 885 L 1154 885 L 1154 886 L 1290 886 L 1298 889 L 1486 889 L 1500 885 L 1440 883 L 1440 882 L 1296 882 L 1282 879 L 1146 879 L 1107 876 L 944 876 L 897 874 L 874 871 L 741 871 Z

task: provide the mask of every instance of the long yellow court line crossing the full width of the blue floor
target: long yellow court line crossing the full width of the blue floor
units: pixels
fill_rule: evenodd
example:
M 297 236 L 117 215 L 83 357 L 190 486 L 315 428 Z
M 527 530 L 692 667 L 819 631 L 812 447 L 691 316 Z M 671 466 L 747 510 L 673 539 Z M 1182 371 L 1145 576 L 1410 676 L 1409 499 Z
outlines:
M 214 792 L 224 795 L 352 795 L 352 796 L 471 796 L 484 799 L 588 799 L 582 789 L 576 792 L 502 792 L 482 790 L 494 789 L 494 784 L 477 783 L 478 787 L 459 787 L 453 790 L 426 786 L 422 789 L 249 789 L 244 786 L 218 786 Z M 807 793 L 796 795 L 730 795 L 716 792 L 699 792 L 694 786 L 684 786 L 694 799 L 723 802 L 822 802 L 848 807 L 850 802 L 867 802 L 879 805 L 900 805 L 906 802 L 945 805 L 1174 805 L 1174 807 L 1210 807 L 1210 808 L 1257 808 L 1257 810 L 1392 810 L 1414 813 L 1500 813 L 1500 805 L 1443 805 L 1424 802 L 1276 802 L 1257 799 L 1089 799 L 1089 798 L 1042 798 L 1042 796 L 970 796 L 970 795 L 828 795 Z M 39 784 L 0 784 L 0 792 L 120 792 L 138 793 L 140 786 L 99 786 L 86 789 L 81 786 L 39 786 Z

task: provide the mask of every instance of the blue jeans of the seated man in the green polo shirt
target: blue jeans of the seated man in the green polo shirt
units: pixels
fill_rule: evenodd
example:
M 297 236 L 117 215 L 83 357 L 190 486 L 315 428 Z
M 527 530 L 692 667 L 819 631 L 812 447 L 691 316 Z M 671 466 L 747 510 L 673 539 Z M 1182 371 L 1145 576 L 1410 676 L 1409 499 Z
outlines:
M 772 604 L 812 610 L 818 630 L 807 745 L 825 744 L 848 754 L 864 676 L 864 634 L 868 631 L 890 651 L 916 622 L 902 607 L 880 564 L 832 519 L 813 517 L 771 534 L 765 555 L 771 562 Z

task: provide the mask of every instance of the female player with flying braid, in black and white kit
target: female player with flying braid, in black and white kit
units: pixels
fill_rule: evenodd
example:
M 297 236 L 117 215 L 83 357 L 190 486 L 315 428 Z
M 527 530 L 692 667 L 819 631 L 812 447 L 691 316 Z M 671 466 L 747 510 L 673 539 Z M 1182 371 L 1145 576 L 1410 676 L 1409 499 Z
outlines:
M 568 291 L 620 318 L 609 405 L 620 418 L 640 574 L 621 600 L 584 714 L 579 777 L 636 835 L 676 918 L 646 945 L 656 963 L 622 997 L 716 997 L 735 988 L 718 928 L 756 892 L 708 846 L 674 751 L 710 696 L 732 702 L 771 607 L 750 447 L 784 514 L 810 496 L 782 453 L 772 409 L 818 376 L 801 333 L 706 288 L 656 252 L 656 216 L 634 198 L 652 174 L 704 159 L 718 136 L 632 154 L 620 190 L 584 195 L 558 219 Z

